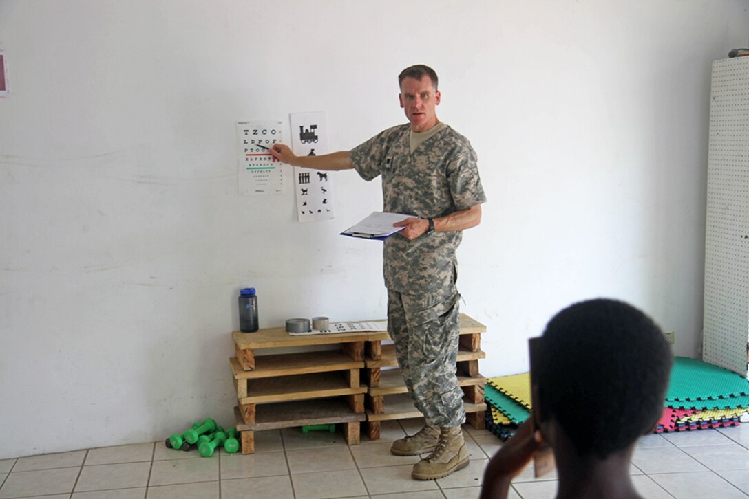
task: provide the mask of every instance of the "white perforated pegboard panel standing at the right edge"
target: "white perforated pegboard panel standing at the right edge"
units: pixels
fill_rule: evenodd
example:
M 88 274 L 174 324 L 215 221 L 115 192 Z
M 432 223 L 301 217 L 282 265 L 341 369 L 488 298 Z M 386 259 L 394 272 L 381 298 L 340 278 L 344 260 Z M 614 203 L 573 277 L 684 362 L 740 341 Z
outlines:
M 749 57 L 712 64 L 703 359 L 747 376 Z

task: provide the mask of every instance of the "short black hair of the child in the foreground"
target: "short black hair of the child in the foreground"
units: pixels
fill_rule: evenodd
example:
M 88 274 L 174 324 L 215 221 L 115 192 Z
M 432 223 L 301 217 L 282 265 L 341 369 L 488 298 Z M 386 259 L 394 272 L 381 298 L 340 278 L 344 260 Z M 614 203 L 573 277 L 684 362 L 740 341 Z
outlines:
M 606 459 L 655 429 L 672 364 L 661 329 L 637 308 L 610 299 L 573 304 L 540 342 L 541 417 L 557 420 L 580 456 Z

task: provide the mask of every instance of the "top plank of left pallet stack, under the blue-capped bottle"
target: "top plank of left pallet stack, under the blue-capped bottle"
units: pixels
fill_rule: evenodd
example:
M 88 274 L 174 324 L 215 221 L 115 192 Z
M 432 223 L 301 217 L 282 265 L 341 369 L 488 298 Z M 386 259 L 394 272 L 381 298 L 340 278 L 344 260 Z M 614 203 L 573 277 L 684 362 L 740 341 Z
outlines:
M 381 322 L 377 321 L 359 321 L 359 322 Z M 307 346 L 307 345 L 336 345 L 338 343 L 349 343 L 351 341 L 366 340 L 387 340 L 386 331 L 357 331 L 353 333 L 336 333 L 336 334 L 304 334 L 294 336 L 288 334 L 285 326 L 282 328 L 264 328 L 258 329 L 254 333 L 243 333 L 234 331 L 231 333 L 234 344 L 239 349 L 267 349 L 267 348 L 284 348 L 287 346 Z

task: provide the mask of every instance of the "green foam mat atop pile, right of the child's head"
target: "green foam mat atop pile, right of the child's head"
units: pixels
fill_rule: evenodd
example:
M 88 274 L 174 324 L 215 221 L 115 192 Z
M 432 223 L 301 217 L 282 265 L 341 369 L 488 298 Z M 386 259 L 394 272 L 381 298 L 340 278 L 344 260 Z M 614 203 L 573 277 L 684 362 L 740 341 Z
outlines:
M 742 376 L 694 358 L 676 357 L 673 359 L 671 381 L 666 392 L 667 405 L 672 405 L 671 402 L 711 400 L 716 401 L 715 405 L 740 407 L 746 404 L 733 399 L 747 396 L 749 396 L 749 381 Z M 723 405 L 724 402 L 726 402 L 725 405 Z M 691 406 L 691 404 L 682 405 Z

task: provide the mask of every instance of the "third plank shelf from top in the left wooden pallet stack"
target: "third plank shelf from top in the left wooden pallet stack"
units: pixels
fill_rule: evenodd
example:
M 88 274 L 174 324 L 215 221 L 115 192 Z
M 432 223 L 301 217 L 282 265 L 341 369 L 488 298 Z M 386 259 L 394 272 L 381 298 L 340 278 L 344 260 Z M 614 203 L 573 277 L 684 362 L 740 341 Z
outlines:
M 242 404 L 336 397 L 367 391 L 364 385 L 351 388 L 340 372 L 249 379 L 247 383 L 247 397 L 239 399 Z

